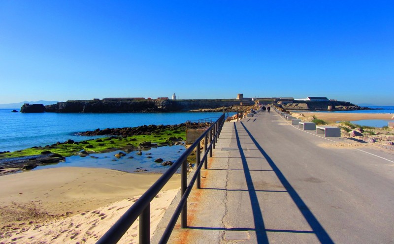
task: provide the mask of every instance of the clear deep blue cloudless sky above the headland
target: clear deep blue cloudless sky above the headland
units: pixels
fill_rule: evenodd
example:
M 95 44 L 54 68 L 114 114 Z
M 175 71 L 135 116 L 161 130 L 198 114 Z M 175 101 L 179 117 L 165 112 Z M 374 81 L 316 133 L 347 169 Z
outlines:
M 0 103 L 173 92 L 394 105 L 394 1 L 0 1 Z

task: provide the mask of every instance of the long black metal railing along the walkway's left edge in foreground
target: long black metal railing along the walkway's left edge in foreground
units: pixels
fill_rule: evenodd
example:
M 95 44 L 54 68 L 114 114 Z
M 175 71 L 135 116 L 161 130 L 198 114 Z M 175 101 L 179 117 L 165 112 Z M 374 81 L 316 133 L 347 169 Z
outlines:
M 201 188 L 201 167 L 208 168 L 208 156 L 212 157 L 212 149 L 215 149 L 215 143 L 220 135 L 220 130 L 225 122 L 225 114 L 223 114 L 216 122 L 200 136 L 198 139 L 184 152 L 178 160 L 157 180 L 152 186 L 124 213 L 118 221 L 99 239 L 97 244 L 115 244 L 117 243 L 126 231 L 130 228 L 131 224 L 139 216 L 139 243 L 148 244 L 150 242 L 150 203 L 152 199 L 160 192 L 168 180 L 176 173 L 181 167 L 181 200 L 175 209 L 163 236 L 160 239 L 161 244 L 168 241 L 176 221 L 181 215 L 181 227 L 187 227 L 187 198 L 193 188 L 194 183 L 197 181 L 197 188 Z M 201 141 L 204 140 L 204 154 L 201 157 Z M 210 142 L 208 145 L 208 141 Z M 187 157 L 196 148 L 196 170 L 187 185 Z

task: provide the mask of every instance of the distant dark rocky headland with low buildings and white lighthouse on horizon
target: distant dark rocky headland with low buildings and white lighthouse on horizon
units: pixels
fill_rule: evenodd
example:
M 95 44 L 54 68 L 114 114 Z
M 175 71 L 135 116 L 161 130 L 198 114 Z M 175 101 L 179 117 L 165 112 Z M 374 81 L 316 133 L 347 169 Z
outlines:
M 337 111 L 363 110 L 350 102 L 337 101 L 327 97 L 307 97 L 294 99 L 293 97 L 263 97 L 246 98 L 237 94 L 235 99 L 183 99 L 177 100 L 175 94 L 172 99 L 158 97 L 157 99 L 144 97 L 94 98 L 91 100 L 68 100 L 56 104 L 24 104 L 22 113 L 167 113 L 167 112 L 237 112 L 250 109 L 259 104 L 275 104 L 286 110 L 306 111 Z

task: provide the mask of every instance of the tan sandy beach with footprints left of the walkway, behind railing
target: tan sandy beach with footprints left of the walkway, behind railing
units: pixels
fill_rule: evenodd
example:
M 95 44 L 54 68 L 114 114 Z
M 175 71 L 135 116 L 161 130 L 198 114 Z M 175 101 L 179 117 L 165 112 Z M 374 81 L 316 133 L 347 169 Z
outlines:
M 0 177 L 0 243 L 96 243 L 161 174 L 53 168 Z M 151 233 L 178 192 L 174 175 L 151 203 Z M 119 243 L 138 239 L 138 221 Z

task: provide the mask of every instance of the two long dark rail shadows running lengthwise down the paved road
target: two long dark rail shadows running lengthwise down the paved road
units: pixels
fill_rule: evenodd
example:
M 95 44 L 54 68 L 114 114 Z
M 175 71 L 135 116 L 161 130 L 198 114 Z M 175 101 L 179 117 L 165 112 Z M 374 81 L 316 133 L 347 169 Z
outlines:
M 294 203 L 296 204 L 298 210 L 302 213 L 302 215 L 304 216 L 305 220 L 308 222 L 309 226 L 312 228 L 312 232 L 309 233 L 313 233 L 316 235 L 316 237 L 319 239 L 319 241 L 321 243 L 324 244 L 333 244 L 334 242 L 332 241 L 332 239 L 329 237 L 328 233 L 326 232 L 326 230 L 323 228 L 323 226 L 320 224 L 320 222 L 317 220 L 317 218 L 315 217 L 315 215 L 309 210 L 309 208 L 306 206 L 306 204 L 304 203 L 304 201 L 301 199 L 301 197 L 298 195 L 298 193 L 296 192 L 296 190 L 294 189 L 294 187 L 289 183 L 289 181 L 286 179 L 286 177 L 282 174 L 282 172 L 279 170 L 279 168 L 276 166 L 276 164 L 274 163 L 274 161 L 268 156 L 268 154 L 263 150 L 263 148 L 260 146 L 260 144 L 256 141 L 256 139 L 253 137 L 253 135 L 250 133 L 250 131 L 246 128 L 246 126 L 240 122 L 240 124 L 243 126 L 243 128 L 245 129 L 245 131 L 249 134 L 250 138 L 252 139 L 252 141 L 255 143 L 256 147 L 260 150 L 260 152 L 263 154 L 263 156 L 265 157 L 265 159 L 267 160 L 269 166 L 273 169 L 273 171 L 275 172 L 276 176 L 278 177 L 279 181 L 282 183 L 282 185 L 285 187 L 286 191 L 289 193 L 290 197 L 292 198 L 292 200 L 294 201 Z M 235 128 L 235 134 L 237 133 L 236 130 L 236 125 L 234 124 L 234 128 Z M 238 142 L 239 138 L 237 137 L 237 142 Z M 241 146 L 241 144 L 239 143 L 239 147 Z M 242 148 L 240 147 L 240 152 L 242 153 L 241 156 L 243 155 L 242 152 Z M 244 163 L 245 161 L 245 163 Z M 247 181 L 251 182 L 250 179 L 250 174 L 248 172 L 248 167 L 247 167 L 247 163 L 245 159 L 242 159 L 242 163 L 246 166 L 244 167 L 245 170 L 245 177 Z M 256 207 L 252 206 L 252 210 L 253 213 L 257 213 L 257 215 L 255 215 L 255 221 L 257 221 L 257 223 L 260 223 L 263 221 L 263 216 L 261 214 L 261 210 L 260 207 L 258 205 L 258 202 L 254 203 L 255 200 L 255 196 L 256 194 L 253 194 L 253 183 L 251 184 L 251 188 L 250 188 L 250 197 L 251 197 L 251 202 L 252 205 L 257 204 Z M 249 187 L 249 182 L 248 182 L 248 187 Z M 253 198 L 253 199 L 252 199 Z M 257 200 L 257 197 L 256 197 Z M 256 201 L 255 200 L 255 201 Z M 257 210 L 258 208 L 258 210 Z M 256 209 L 256 210 L 255 210 Z M 261 218 L 261 219 L 260 219 Z M 261 224 L 261 223 L 260 223 Z M 257 227 L 257 226 L 256 226 Z M 264 233 L 266 233 L 268 230 L 265 230 Z M 265 234 L 266 237 L 266 234 Z M 260 242 L 259 242 L 260 243 Z M 263 243 L 263 242 L 262 242 Z

